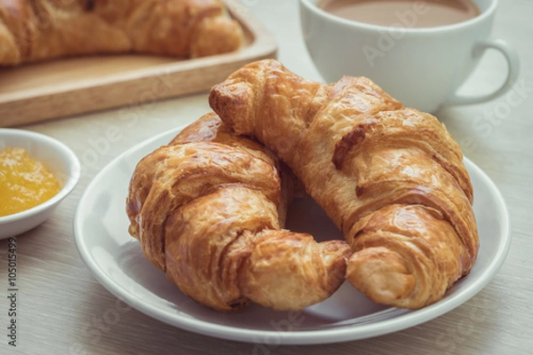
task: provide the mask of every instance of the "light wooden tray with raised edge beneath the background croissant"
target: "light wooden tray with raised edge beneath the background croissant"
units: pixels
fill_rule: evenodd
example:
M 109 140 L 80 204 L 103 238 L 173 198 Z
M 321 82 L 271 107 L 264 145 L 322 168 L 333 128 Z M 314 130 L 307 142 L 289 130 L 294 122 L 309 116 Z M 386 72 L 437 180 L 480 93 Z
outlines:
M 253 60 L 274 58 L 274 37 L 242 4 L 227 1 L 243 49 L 201 59 L 144 55 L 58 59 L 0 69 L 0 127 L 207 91 Z

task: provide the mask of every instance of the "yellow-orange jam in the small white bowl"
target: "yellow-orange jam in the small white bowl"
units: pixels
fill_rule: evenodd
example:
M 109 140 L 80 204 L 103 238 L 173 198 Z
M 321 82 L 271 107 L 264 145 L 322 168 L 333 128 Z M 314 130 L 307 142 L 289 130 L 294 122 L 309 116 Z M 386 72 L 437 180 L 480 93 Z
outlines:
M 50 200 L 60 189 L 52 171 L 26 150 L 0 151 L 0 217 L 31 209 Z

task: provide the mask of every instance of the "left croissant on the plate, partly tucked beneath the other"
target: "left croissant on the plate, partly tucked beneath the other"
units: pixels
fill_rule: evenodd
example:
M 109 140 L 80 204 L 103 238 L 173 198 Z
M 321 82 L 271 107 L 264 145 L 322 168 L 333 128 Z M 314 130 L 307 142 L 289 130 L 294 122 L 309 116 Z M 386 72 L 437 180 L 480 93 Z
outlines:
M 200 304 L 299 310 L 341 285 L 351 250 L 346 241 L 318 243 L 282 229 L 293 178 L 264 146 L 206 114 L 139 162 L 126 203 L 129 232 Z

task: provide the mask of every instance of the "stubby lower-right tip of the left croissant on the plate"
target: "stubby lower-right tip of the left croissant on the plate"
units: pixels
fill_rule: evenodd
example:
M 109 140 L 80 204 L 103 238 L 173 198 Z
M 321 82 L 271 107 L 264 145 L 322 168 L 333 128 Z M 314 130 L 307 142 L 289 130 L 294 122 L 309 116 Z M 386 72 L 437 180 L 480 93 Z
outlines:
M 259 304 L 298 310 L 328 298 L 345 279 L 344 241 L 316 243 L 309 234 L 276 230 L 263 230 L 257 238 L 239 286 Z

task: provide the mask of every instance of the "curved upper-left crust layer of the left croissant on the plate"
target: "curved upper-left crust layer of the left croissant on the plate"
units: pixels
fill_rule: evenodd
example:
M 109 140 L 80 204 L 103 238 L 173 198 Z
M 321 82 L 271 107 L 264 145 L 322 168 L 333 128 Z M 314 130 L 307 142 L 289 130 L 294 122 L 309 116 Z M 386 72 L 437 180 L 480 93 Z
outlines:
M 127 206 L 139 219 L 131 225 L 139 231 L 131 233 L 139 235 L 148 259 L 164 270 L 163 225 L 168 214 L 209 193 L 213 185 L 236 183 L 253 185 L 275 205 L 279 202 L 277 170 L 243 149 L 211 142 L 163 146 L 139 162 L 131 179 Z

